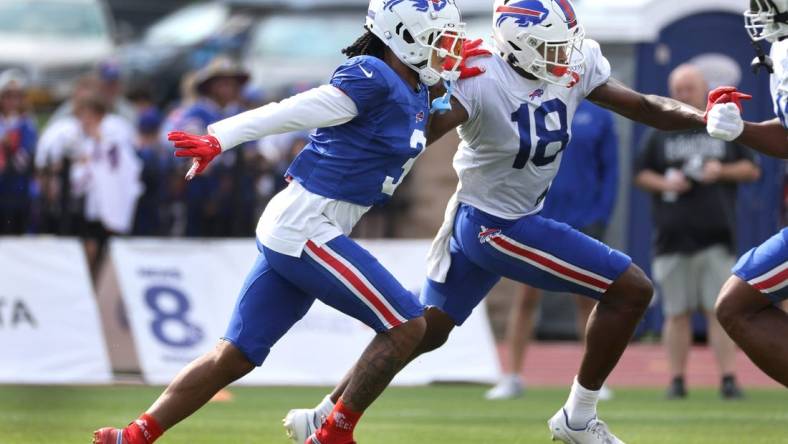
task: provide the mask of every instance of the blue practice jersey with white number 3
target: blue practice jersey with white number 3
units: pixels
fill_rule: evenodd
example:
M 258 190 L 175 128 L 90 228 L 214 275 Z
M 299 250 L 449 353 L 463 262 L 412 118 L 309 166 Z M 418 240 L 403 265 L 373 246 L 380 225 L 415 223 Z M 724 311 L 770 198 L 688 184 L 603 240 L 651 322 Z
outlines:
M 319 128 L 287 175 L 312 193 L 357 205 L 388 200 L 427 143 L 429 92 L 414 91 L 382 60 L 349 59 L 331 85 L 356 104 L 343 125 Z

